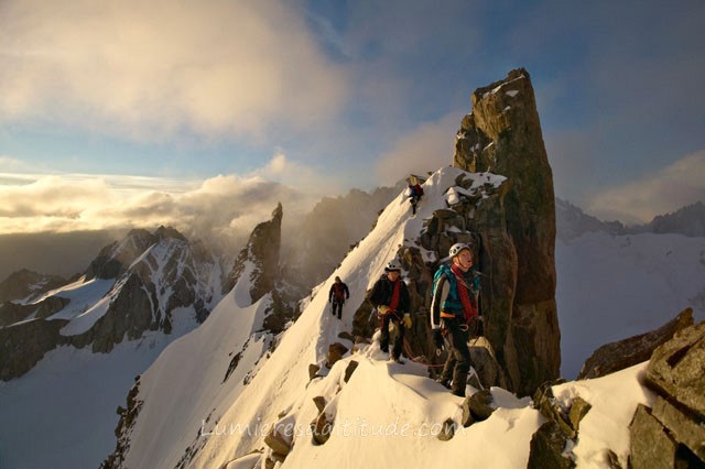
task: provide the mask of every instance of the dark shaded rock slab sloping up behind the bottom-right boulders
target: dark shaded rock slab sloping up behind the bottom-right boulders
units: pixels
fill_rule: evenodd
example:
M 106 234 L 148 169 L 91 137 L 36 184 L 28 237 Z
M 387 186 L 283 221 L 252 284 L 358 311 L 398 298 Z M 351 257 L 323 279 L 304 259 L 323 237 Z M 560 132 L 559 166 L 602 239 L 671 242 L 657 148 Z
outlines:
M 647 361 L 657 347 L 671 340 L 679 330 L 692 325 L 693 309 L 686 308 L 657 330 L 607 343 L 595 350 L 585 361 L 577 379 L 604 377 Z

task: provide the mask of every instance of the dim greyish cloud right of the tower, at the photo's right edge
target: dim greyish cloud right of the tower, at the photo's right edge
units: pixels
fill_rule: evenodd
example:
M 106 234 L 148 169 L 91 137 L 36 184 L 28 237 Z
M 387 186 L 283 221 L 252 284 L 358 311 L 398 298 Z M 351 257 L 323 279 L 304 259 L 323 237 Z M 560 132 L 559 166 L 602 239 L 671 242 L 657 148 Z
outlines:
M 686 155 L 641 181 L 601 192 L 585 208 L 604 220 L 648 222 L 696 200 L 705 200 L 705 151 Z

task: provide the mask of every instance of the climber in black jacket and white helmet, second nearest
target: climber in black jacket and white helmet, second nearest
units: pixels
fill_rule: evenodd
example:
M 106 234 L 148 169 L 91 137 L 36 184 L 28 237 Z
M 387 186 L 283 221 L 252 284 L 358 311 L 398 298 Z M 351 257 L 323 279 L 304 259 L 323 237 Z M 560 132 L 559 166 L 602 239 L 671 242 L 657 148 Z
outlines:
M 401 349 L 404 341 L 404 331 L 411 327 L 409 309 L 411 299 L 406 284 L 400 279 L 401 265 L 397 260 L 391 260 L 384 268 L 384 274 L 375 283 L 370 294 L 370 303 L 377 308 L 381 319 L 380 349 L 389 351 L 389 323 L 392 321 L 399 328 L 394 339 L 394 346 L 389 359 L 397 363 L 401 360 Z

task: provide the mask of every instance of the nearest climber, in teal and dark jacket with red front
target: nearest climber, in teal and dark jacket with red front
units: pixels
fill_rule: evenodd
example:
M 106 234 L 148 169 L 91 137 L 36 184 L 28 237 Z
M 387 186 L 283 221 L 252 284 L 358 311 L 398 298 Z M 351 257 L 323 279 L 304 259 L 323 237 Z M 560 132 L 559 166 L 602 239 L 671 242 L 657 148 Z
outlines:
M 452 265 L 442 264 L 433 280 L 431 329 L 436 348 L 443 348 L 444 335 L 449 336 L 451 340 L 448 358 L 436 381 L 449 388 L 453 394 L 465 396 L 470 370 L 470 350 L 467 346 L 469 329 L 475 324 L 481 326 L 477 310 L 479 274 L 473 269 L 473 252 L 467 244 L 453 244 L 449 255 Z

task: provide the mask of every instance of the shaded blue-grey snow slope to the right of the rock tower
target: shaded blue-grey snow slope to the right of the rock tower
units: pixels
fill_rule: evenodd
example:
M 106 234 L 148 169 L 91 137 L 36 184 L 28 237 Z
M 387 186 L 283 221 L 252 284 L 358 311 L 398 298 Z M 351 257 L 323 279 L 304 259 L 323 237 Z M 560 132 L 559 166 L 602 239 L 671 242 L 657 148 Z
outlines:
M 595 231 L 555 248 L 566 379 L 598 347 L 653 330 L 686 307 L 705 319 L 705 238 Z

